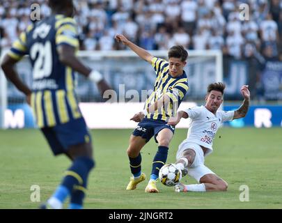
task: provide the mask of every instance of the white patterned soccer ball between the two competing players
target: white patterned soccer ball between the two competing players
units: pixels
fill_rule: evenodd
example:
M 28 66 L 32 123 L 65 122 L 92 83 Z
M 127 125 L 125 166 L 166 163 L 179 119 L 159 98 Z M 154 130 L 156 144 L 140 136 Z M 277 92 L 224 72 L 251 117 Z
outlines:
M 161 181 L 163 185 L 172 187 L 178 184 L 181 178 L 181 170 L 173 163 L 164 164 L 159 170 L 159 181 Z

